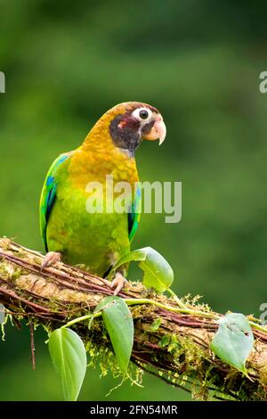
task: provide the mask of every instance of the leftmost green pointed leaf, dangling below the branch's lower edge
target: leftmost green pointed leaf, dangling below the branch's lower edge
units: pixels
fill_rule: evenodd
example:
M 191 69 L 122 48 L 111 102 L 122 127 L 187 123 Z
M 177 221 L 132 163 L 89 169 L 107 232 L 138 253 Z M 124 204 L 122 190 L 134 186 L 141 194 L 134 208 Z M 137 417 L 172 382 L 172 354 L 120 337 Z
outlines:
M 49 337 L 49 351 L 61 380 L 64 399 L 77 400 L 87 365 L 83 341 L 70 329 L 57 329 Z

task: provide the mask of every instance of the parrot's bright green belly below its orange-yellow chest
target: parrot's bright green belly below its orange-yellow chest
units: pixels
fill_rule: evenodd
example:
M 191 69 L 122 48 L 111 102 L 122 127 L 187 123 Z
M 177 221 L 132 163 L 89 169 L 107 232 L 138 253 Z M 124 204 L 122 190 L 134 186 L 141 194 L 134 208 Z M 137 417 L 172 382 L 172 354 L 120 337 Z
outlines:
M 68 182 L 59 188 L 47 226 L 49 251 L 60 251 L 70 265 L 85 264 L 97 275 L 130 250 L 126 214 L 89 214 L 88 195 L 73 191 Z

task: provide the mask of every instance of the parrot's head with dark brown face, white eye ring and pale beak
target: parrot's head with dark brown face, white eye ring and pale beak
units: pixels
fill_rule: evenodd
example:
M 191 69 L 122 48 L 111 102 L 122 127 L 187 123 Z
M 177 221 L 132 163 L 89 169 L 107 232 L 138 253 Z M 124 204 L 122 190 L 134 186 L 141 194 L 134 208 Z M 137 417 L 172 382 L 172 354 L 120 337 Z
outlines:
M 162 144 L 166 137 L 166 125 L 159 111 L 141 102 L 119 103 L 107 111 L 93 132 L 103 134 L 105 130 L 114 146 L 131 157 L 142 140 L 158 140 Z

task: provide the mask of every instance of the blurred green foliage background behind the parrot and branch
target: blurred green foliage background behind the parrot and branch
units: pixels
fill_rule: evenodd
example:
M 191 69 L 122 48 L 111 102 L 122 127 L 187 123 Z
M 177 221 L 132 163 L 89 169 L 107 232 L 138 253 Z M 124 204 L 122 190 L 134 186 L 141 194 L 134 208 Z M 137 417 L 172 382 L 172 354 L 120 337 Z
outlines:
M 38 198 L 61 152 L 76 148 L 116 103 L 158 107 L 166 143 L 142 144 L 142 180 L 182 181 L 182 222 L 144 215 L 134 247 L 174 267 L 174 291 L 214 310 L 254 313 L 267 300 L 267 70 L 263 1 L 0 0 L 0 235 L 42 250 Z M 149 142 L 147 142 L 149 143 Z M 57 400 L 45 335 L 9 326 L 0 399 Z M 80 399 L 117 384 L 89 371 Z M 148 376 L 108 400 L 190 399 Z

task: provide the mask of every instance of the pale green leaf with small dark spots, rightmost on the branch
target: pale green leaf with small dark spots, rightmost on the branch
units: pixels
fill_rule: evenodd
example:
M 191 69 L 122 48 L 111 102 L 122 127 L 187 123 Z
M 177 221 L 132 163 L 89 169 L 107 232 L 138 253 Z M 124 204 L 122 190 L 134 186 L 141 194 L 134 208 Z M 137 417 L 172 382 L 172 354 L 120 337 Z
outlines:
M 231 313 L 219 320 L 219 329 L 210 346 L 217 357 L 247 374 L 246 360 L 253 344 L 254 336 L 247 318 Z

